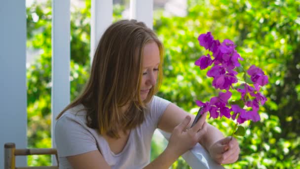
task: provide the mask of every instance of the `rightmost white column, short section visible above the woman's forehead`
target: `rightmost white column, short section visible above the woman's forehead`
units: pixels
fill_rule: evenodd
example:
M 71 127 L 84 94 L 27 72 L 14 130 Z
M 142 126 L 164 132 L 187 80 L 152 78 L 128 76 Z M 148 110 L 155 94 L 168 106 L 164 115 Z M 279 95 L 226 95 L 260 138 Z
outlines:
M 130 0 L 130 19 L 143 21 L 153 27 L 153 0 Z

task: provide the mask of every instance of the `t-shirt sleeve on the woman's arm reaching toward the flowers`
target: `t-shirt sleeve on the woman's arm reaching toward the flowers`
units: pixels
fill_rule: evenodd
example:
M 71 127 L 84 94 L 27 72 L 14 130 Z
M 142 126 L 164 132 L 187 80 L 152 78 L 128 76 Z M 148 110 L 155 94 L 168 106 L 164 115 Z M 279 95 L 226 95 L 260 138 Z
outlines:
M 153 96 L 150 103 L 152 123 L 157 128 L 158 122 L 171 102 L 158 96 Z

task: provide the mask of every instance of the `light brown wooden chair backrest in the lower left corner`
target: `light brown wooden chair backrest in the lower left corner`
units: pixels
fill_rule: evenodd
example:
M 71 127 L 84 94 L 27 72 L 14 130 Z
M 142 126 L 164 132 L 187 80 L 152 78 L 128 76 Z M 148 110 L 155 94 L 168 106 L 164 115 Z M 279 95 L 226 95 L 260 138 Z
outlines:
M 55 155 L 57 166 L 16 167 L 16 156 Z M 15 143 L 4 144 L 4 169 L 58 169 L 57 150 L 54 148 L 16 149 Z

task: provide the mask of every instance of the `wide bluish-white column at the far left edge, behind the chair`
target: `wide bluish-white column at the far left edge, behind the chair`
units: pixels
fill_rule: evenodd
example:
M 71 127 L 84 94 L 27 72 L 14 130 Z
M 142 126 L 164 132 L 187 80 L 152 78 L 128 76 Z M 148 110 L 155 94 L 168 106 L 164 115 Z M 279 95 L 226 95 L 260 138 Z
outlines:
M 5 142 L 27 148 L 25 0 L 1 0 L 0 22 L 0 169 L 4 169 Z M 16 165 L 27 166 L 26 157 L 18 157 Z

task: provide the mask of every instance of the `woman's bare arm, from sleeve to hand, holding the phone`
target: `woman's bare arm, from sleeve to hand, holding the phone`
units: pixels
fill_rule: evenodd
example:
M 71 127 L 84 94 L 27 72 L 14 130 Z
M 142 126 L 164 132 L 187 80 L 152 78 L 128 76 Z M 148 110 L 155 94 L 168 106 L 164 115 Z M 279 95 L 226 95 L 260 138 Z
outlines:
M 179 156 L 198 142 L 204 133 L 204 130 L 200 131 L 199 129 L 205 126 L 203 126 L 205 118 L 201 118 L 194 127 L 186 130 L 190 120 L 190 117 L 187 116 L 182 123 L 174 127 L 167 148 L 144 169 L 168 169 Z M 98 150 L 69 156 L 67 159 L 74 169 L 110 169 Z

